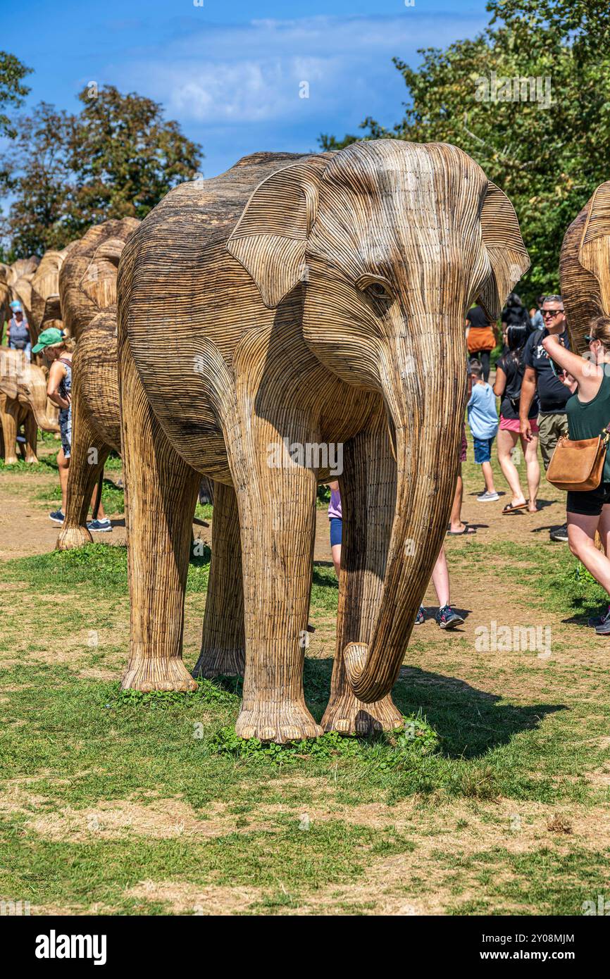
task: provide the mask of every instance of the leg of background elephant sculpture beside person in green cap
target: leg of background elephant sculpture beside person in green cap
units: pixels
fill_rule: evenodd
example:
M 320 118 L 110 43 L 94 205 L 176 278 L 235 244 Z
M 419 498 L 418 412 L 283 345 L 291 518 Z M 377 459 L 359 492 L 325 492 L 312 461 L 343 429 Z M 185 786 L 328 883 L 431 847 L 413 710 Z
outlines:
M 72 400 L 72 441 L 68 471 L 66 520 L 57 538 L 57 550 L 70 550 L 91 543 L 87 530 L 87 513 L 93 490 L 104 471 L 110 446 L 96 433 L 91 419 L 79 399 Z

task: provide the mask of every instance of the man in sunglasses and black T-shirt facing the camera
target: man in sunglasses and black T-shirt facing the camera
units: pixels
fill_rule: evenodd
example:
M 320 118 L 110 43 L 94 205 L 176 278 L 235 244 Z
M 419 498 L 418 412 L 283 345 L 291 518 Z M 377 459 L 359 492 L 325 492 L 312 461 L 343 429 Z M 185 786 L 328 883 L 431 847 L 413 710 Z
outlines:
M 559 343 L 569 350 L 566 316 L 561 296 L 547 296 L 540 310 L 544 326 L 529 338 L 523 356 L 525 372 L 519 400 L 519 425 L 527 442 L 532 439 L 532 426 L 528 414 L 534 397 L 540 401 L 540 455 L 544 469 L 548 469 L 555 445 L 560 436 L 568 434 L 566 402 L 572 391 L 559 378 L 553 361 L 542 346 L 549 336 L 558 337 Z M 563 527 L 550 532 L 551 540 L 567 542 L 568 531 Z

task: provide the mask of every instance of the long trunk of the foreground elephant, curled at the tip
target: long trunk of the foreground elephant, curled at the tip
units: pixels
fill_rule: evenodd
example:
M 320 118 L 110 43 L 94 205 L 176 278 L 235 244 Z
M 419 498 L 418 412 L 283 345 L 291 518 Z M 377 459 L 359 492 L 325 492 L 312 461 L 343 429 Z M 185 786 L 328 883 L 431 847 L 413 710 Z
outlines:
M 381 605 L 370 644 L 344 649 L 346 671 L 358 700 L 385 697 L 399 676 L 417 609 L 445 535 L 458 466 L 465 397 L 466 348 L 455 323 L 432 333 L 424 317 L 411 333 L 422 337 L 415 361 L 389 358 L 385 401 L 392 420 L 397 459 L 397 500 Z M 455 317 L 458 322 L 458 317 Z M 430 332 L 425 333 L 426 321 Z

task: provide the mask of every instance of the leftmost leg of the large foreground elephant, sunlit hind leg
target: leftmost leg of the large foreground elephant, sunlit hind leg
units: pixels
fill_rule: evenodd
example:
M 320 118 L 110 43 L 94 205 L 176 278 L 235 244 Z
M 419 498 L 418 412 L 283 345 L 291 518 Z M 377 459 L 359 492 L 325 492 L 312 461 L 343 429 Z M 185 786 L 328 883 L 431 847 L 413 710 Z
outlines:
M 167 442 L 130 356 L 122 365 L 129 662 L 123 689 L 196 690 L 182 662 L 184 592 L 200 475 Z

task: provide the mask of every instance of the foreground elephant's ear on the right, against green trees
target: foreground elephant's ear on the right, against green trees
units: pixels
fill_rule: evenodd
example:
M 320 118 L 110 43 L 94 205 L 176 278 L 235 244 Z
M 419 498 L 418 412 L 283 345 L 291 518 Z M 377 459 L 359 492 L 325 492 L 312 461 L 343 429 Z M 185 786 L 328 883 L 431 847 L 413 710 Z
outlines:
M 496 320 L 506 297 L 530 267 L 530 256 L 523 244 L 515 209 L 491 180 L 481 211 L 481 232 L 492 274 L 479 291 L 479 303 Z

